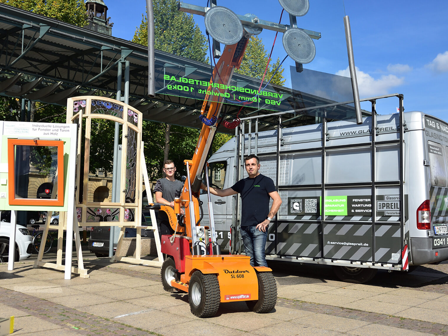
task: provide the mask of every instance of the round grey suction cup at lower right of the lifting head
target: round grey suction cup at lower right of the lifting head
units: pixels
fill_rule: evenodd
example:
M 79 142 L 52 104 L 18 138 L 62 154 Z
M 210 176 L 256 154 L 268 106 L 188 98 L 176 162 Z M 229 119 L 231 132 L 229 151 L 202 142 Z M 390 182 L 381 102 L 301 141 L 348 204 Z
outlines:
M 316 56 L 313 40 L 302 29 L 290 28 L 283 34 L 286 53 L 298 63 L 310 63 Z

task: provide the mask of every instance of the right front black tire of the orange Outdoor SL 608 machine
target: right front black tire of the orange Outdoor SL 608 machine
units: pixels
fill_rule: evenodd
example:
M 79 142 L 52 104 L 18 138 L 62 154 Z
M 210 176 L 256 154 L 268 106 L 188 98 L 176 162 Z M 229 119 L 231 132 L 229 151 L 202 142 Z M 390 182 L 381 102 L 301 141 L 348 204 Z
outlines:
M 254 313 L 265 314 L 274 309 L 277 303 L 277 284 L 271 272 L 257 272 L 258 300 L 246 301 Z

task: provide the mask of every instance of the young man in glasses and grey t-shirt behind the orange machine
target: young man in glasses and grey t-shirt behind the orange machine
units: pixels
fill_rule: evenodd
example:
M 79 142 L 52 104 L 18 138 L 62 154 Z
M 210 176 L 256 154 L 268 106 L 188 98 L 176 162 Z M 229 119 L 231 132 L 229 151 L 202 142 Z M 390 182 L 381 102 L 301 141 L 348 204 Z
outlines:
M 181 196 L 184 184 L 174 178 L 176 167 L 172 160 L 164 162 L 164 172 L 166 177 L 157 180 L 154 187 L 155 202 L 174 207 L 174 198 Z M 168 216 L 164 211 L 159 211 L 158 215 L 160 234 L 172 234 L 174 230 L 168 221 Z

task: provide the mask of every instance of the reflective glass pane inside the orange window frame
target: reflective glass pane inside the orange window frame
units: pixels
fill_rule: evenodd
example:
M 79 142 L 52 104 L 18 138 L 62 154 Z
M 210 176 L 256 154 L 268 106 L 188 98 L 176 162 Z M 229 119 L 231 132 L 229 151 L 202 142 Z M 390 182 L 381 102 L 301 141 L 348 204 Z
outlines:
M 57 146 L 14 146 L 14 198 L 57 199 L 57 152 Z

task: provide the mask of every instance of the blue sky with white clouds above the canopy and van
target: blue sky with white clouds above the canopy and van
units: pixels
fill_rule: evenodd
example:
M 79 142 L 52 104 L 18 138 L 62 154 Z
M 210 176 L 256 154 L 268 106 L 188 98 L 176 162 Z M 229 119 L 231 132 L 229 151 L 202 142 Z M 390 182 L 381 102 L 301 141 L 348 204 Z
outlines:
M 112 34 L 132 39 L 146 10 L 145 0 L 104 0 L 108 16 L 114 22 Z M 204 0 L 187 0 L 205 6 Z M 267 21 L 278 22 L 282 7 L 277 0 L 218 0 L 235 13 L 252 13 Z M 332 74 L 348 74 L 344 15 L 349 15 L 358 86 L 361 98 L 401 93 L 405 111 L 423 111 L 448 121 L 448 0 L 311 0 L 310 10 L 297 17 L 300 28 L 318 31 L 322 38 L 314 40 L 316 56 L 304 65 Z M 194 16 L 205 33 L 204 18 Z M 281 21 L 289 24 L 286 12 Z M 270 50 L 275 33 L 263 30 L 258 35 Z M 286 56 L 276 40 L 273 58 Z M 284 75 L 289 77 L 289 57 L 284 62 Z M 288 81 L 289 82 L 289 81 Z M 288 83 L 287 82 L 287 83 Z M 379 101 L 377 112 L 396 111 L 398 99 Z M 369 109 L 365 104 L 362 108 Z

